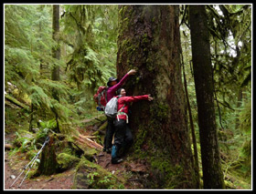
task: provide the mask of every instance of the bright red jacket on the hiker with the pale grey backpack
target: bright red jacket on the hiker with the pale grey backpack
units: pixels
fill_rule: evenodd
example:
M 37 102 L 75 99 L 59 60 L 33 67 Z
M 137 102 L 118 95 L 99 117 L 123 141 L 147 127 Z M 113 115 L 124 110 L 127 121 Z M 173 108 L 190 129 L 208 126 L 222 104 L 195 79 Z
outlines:
M 136 101 L 139 101 L 139 100 L 142 100 L 142 99 L 145 99 L 147 100 L 148 99 L 148 95 L 144 95 L 144 96 L 136 96 L 136 97 L 119 97 L 118 98 L 118 105 L 117 105 L 117 111 L 119 111 L 123 105 L 125 104 L 125 106 L 121 109 L 121 115 L 118 114 L 118 118 L 119 119 L 123 119 L 123 120 L 126 120 L 126 115 L 124 115 L 123 113 L 125 114 L 128 114 L 128 111 L 129 111 L 129 104 L 131 102 L 136 102 Z M 128 120 L 127 120 L 128 121 Z

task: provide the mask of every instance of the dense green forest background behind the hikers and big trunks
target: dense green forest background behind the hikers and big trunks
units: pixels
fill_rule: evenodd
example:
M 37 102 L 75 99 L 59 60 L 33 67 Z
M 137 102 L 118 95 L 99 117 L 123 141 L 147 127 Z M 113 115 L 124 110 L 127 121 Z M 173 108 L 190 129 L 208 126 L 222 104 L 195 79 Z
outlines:
M 71 137 L 78 128 L 89 130 L 85 120 L 104 119 L 93 95 L 109 77 L 118 76 L 118 5 L 59 5 L 58 31 L 52 22 L 53 6 L 5 5 L 5 142 L 14 135 L 9 157 L 25 153 L 31 159 L 49 134 Z M 182 83 L 187 115 L 191 113 L 188 128 L 195 131 L 197 149 L 195 144 L 191 149 L 194 156 L 197 151 L 201 179 L 189 5 L 178 7 Z M 227 189 L 251 189 L 252 7 L 205 7 L 223 179 Z M 95 143 L 102 145 L 102 137 L 98 133 Z M 191 132 L 189 138 L 194 140 Z

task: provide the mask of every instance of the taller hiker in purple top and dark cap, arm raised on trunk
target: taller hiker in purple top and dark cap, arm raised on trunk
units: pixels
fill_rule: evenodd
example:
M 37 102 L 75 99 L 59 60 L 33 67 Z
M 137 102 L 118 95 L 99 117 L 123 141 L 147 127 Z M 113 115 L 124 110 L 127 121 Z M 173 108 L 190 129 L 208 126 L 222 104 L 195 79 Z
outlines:
M 112 97 L 115 96 L 115 93 L 117 89 L 123 86 L 124 82 L 128 79 L 129 76 L 134 75 L 136 73 L 136 70 L 131 69 L 120 81 L 115 77 L 110 77 L 109 81 L 107 83 L 108 90 L 107 90 L 107 102 L 109 102 Z M 108 118 L 108 126 L 106 129 L 106 134 L 104 138 L 104 146 L 103 151 L 106 151 L 107 153 L 112 152 L 112 136 L 114 134 L 114 126 L 113 126 L 113 120 Z

